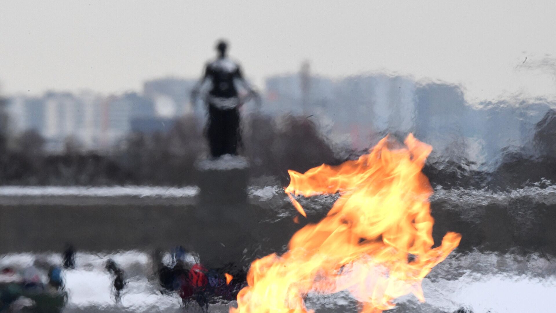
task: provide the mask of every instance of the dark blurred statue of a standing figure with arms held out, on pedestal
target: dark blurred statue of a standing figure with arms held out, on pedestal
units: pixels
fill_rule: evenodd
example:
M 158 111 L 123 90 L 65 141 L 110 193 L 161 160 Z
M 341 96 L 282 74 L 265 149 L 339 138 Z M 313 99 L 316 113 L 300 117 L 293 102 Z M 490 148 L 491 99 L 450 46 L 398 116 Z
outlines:
M 240 65 L 227 57 L 228 45 L 219 41 L 216 45 L 216 60 L 207 63 L 205 74 L 191 92 L 195 103 L 200 87 L 206 82 L 212 83 L 206 104 L 209 111 L 207 136 L 211 155 L 217 158 L 224 154 L 237 155 L 237 146 L 241 141 L 239 107 L 245 99 L 241 99 L 235 82 L 239 81 L 249 92 L 250 97 L 258 97 L 255 90 L 244 79 Z

